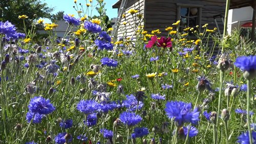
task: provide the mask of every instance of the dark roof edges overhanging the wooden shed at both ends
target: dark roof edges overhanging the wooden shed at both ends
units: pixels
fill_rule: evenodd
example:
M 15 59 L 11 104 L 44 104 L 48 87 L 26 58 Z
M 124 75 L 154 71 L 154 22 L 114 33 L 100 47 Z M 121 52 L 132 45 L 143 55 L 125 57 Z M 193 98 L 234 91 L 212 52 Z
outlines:
M 224 0 L 223 0 L 224 1 Z M 253 1 L 255 0 L 231 0 L 229 9 L 237 9 L 251 6 L 253 8 Z M 113 9 L 120 7 L 122 0 L 118 0 L 113 6 Z M 254 2 L 254 7 L 256 7 L 256 2 Z

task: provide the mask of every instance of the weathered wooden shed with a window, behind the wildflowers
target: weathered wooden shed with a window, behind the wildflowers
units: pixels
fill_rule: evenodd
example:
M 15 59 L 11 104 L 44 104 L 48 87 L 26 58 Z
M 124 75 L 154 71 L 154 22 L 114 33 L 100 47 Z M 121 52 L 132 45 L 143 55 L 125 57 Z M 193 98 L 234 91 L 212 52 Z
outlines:
M 231 0 L 230 9 L 252 6 L 256 13 L 255 1 Z M 208 29 L 217 27 L 222 33 L 223 21 L 220 16 L 225 15 L 226 0 L 119 0 L 113 5 L 113 8 L 118 9 L 118 18 L 112 33 L 114 38 L 134 36 L 136 30 L 134 24 L 140 19 L 134 20 L 133 15 L 128 13 L 130 9 L 138 10 L 138 13 L 143 15 L 142 23 L 148 32 L 159 29 L 162 35 L 167 35 L 164 29 L 172 26 L 172 23 L 177 20 L 181 20 L 181 28 L 196 27 L 197 25 L 201 27 L 208 23 Z M 255 15 L 253 17 L 255 21 Z M 125 23 L 126 25 L 124 25 Z

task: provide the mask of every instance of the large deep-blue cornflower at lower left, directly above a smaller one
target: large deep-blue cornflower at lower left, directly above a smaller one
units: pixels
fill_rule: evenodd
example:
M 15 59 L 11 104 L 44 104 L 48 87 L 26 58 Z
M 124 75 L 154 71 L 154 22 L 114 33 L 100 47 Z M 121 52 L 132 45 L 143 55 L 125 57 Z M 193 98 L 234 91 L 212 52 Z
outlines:
M 30 100 L 29 111 L 39 114 L 49 114 L 55 110 L 55 107 L 50 103 L 49 99 L 42 97 L 34 97 Z

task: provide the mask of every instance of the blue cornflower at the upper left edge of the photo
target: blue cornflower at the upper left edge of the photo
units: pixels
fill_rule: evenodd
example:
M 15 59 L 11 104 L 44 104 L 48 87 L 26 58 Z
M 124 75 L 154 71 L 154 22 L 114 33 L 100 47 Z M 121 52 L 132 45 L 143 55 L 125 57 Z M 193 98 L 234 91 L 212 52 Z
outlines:
M 6 22 L 0 21 L 0 34 L 5 35 L 6 39 L 15 38 L 16 28 L 8 20 Z

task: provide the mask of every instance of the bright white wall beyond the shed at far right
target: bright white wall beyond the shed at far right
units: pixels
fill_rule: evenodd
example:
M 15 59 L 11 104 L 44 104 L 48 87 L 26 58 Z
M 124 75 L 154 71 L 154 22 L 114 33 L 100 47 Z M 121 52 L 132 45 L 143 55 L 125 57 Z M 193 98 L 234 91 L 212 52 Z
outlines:
M 231 9 L 228 12 L 227 31 L 230 34 L 232 30 L 239 29 L 241 25 L 251 21 L 253 9 L 252 7 L 244 7 L 239 9 Z

